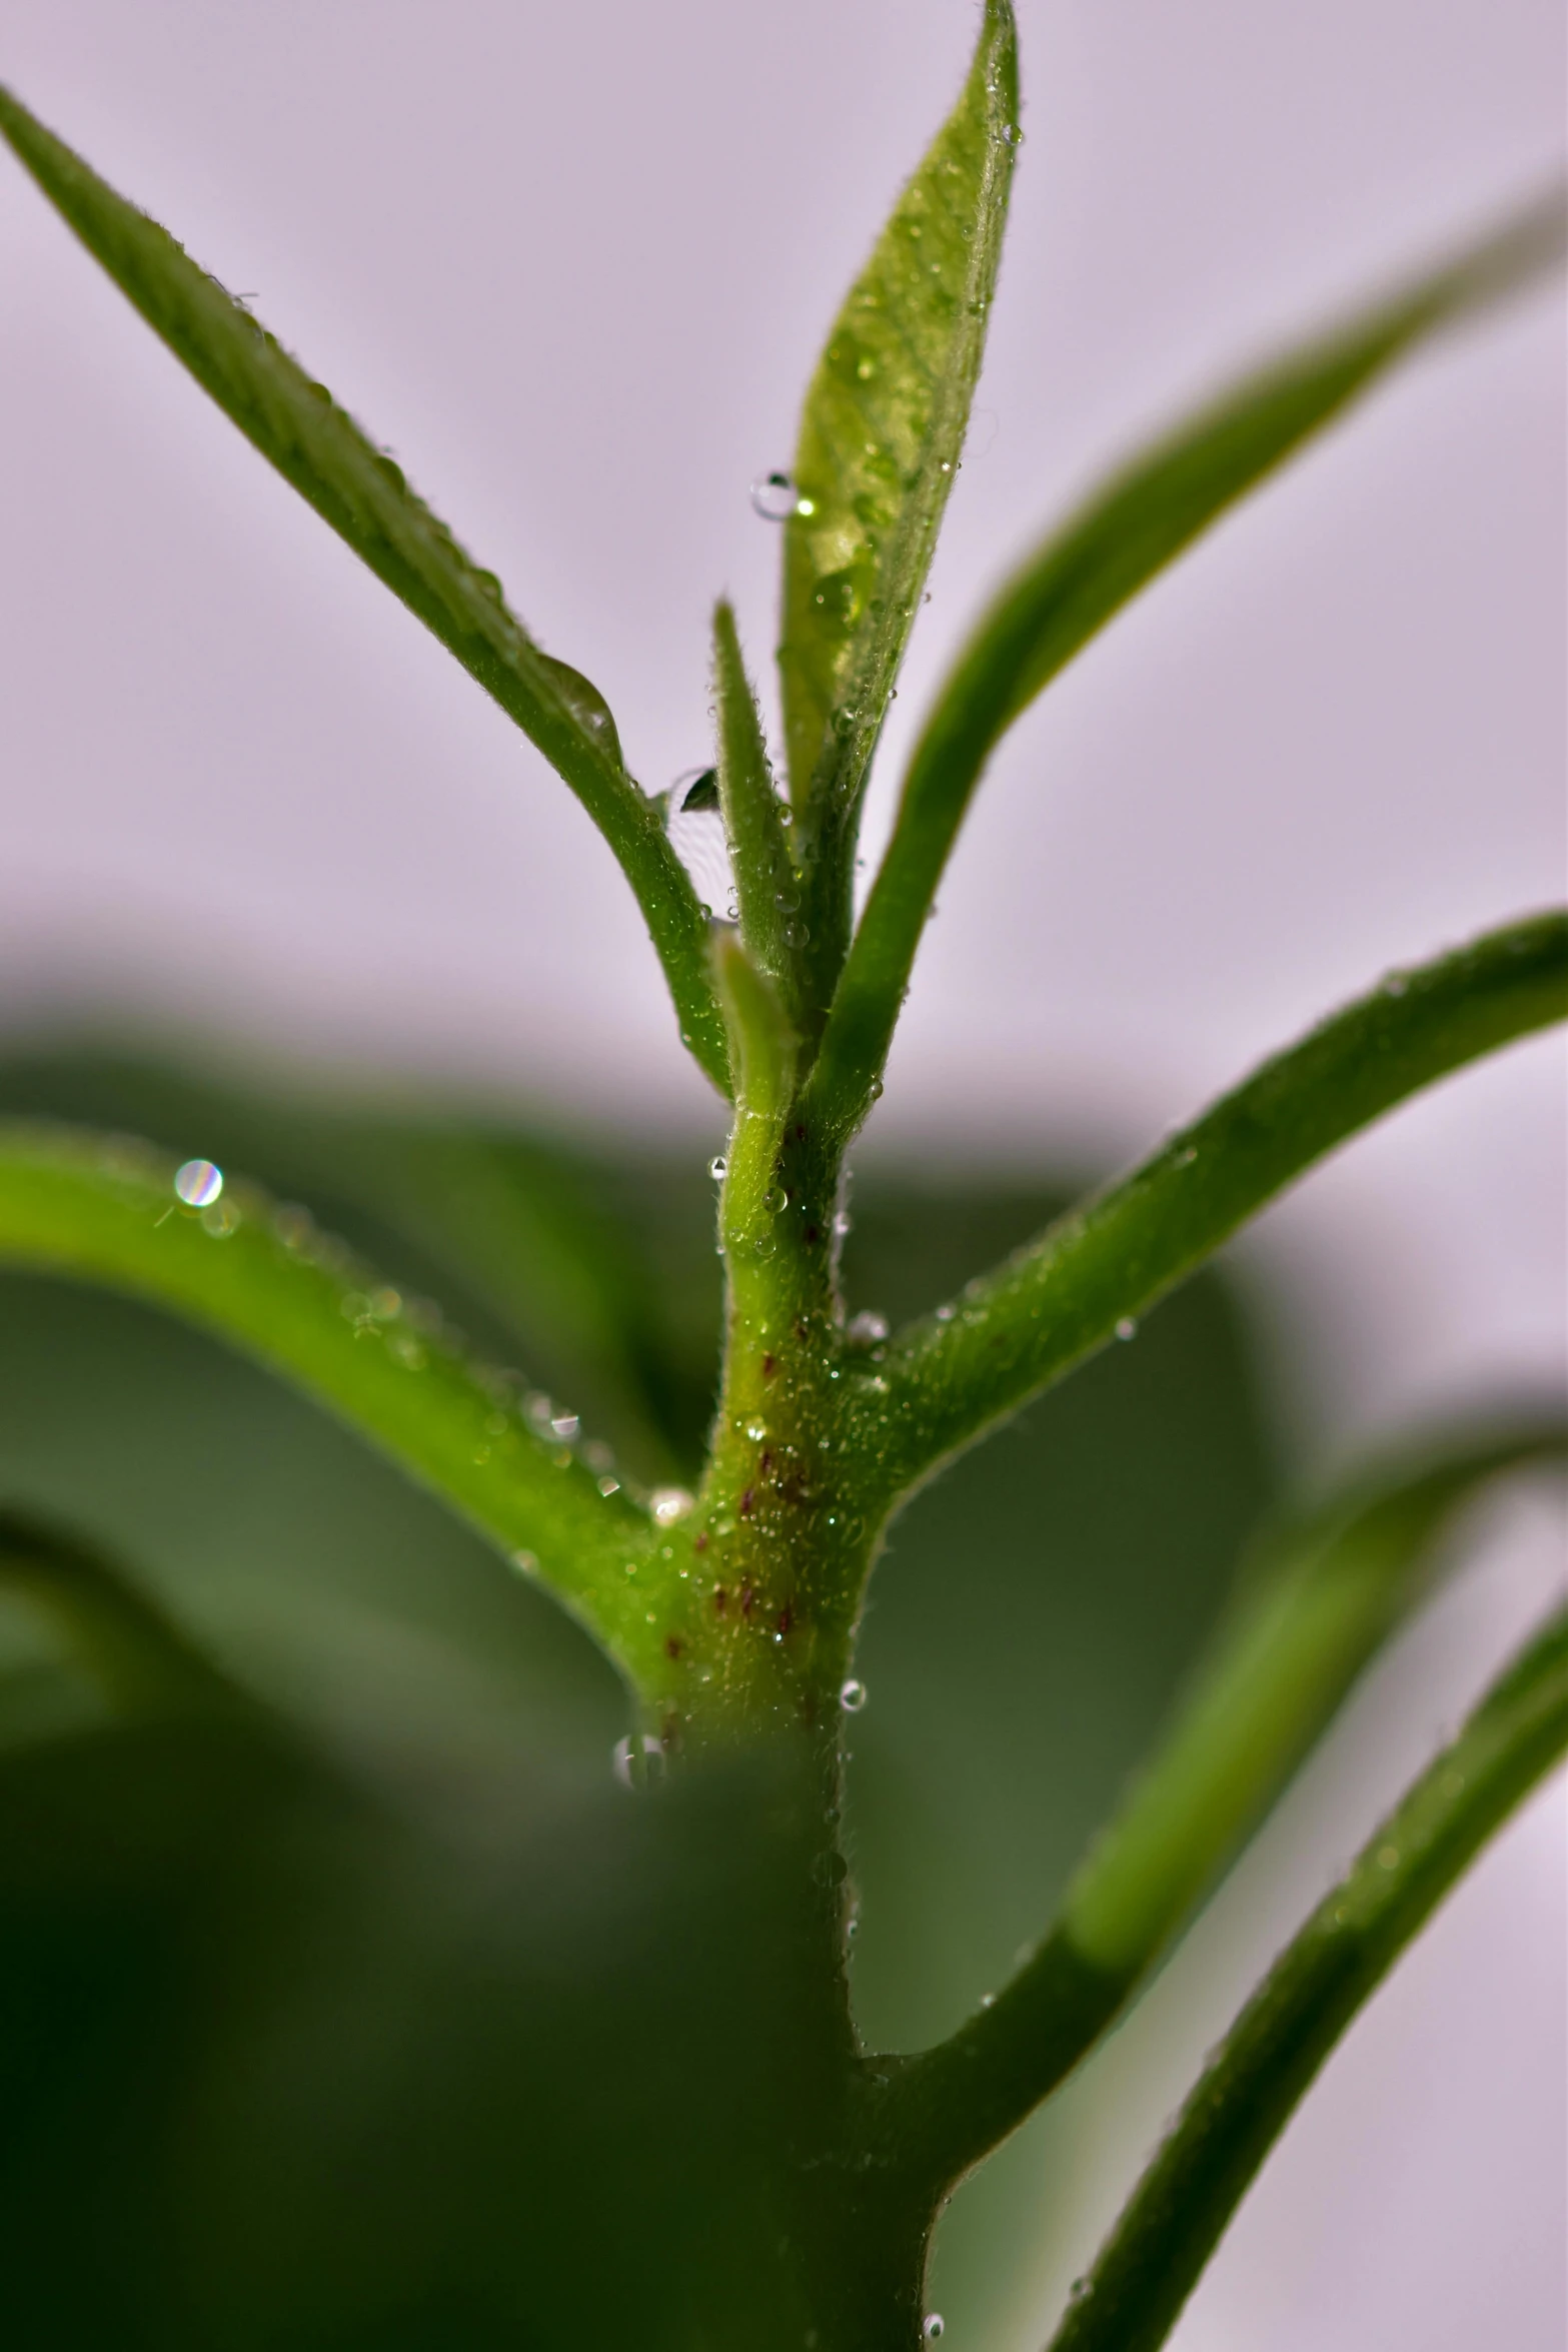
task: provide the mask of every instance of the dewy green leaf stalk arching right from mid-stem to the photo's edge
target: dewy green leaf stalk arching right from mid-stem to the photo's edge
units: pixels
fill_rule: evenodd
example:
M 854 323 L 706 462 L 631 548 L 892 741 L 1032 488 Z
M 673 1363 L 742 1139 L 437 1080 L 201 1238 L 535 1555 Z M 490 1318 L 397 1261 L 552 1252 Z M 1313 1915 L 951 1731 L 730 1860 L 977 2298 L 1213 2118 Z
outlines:
M 889 1503 L 1131 1324 L 1302 1169 L 1436 1077 L 1568 1014 L 1568 915 L 1392 971 L 1265 1061 L 957 1308 L 900 1331 L 863 1409 Z

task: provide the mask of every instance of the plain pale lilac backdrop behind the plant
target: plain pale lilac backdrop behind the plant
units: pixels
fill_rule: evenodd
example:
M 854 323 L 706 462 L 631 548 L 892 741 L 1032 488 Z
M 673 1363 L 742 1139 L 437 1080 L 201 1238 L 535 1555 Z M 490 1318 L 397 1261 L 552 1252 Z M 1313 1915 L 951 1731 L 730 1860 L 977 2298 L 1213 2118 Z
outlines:
M 884 776 L 980 586 L 1100 459 L 1561 151 L 1556 0 L 1020 16 L 1001 303 Z M 717 588 L 766 656 L 745 487 L 971 38 L 966 0 L 7 0 L 0 73 L 256 296 L 658 786 L 705 753 Z M 5 1021 L 708 1120 L 564 788 L 12 167 L 0 355 Z M 994 1148 L 1131 1150 L 1387 962 L 1561 894 L 1561 426 L 1547 299 L 1408 369 L 1016 729 L 889 1129 L 952 1138 L 959 1105 Z M 1312 1341 L 1305 1449 L 1556 1376 L 1561 1225 L 1549 1044 L 1314 1176 L 1244 1254 Z M 1495 1517 L 1112 2053 L 1164 2034 L 1133 2140 L 1559 1576 L 1544 1505 Z M 1547 1795 L 1331 2065 L 1182 2352 L 1559 2352 L 1563 1907 Z M 1081 2253 L 1126 2129 L 1084 2164 Z

